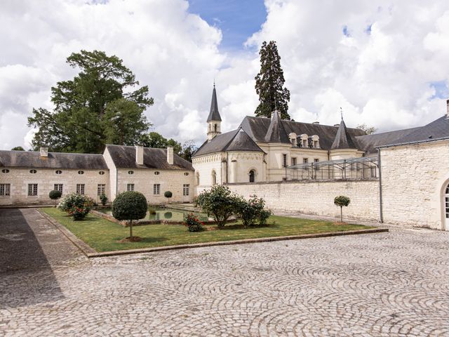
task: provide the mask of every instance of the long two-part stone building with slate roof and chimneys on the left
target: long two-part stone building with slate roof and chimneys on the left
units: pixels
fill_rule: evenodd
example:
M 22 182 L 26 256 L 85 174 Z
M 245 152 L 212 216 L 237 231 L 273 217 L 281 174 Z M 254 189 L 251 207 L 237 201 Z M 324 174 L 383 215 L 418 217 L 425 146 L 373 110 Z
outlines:
M 76 192 L 110 201 L 123 191 L 142 192 L 150 204 L 194 198 L 192 164 L 168 149 L 107 145 L 103 154 L 0 151 L 0 205 L 50 204 L 48 193 Z

